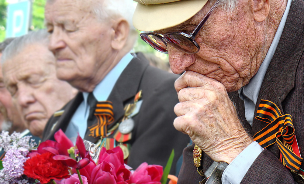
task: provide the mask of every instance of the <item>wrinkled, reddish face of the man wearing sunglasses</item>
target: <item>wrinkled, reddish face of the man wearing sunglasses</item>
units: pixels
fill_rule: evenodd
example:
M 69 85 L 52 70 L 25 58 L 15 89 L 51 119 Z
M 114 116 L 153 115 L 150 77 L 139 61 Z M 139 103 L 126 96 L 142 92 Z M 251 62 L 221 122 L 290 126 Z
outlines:
M 207 2 L 203 9 L 190 20 L 172 28 L 156 31 L 189 32 L 199 24 L 213 4 Z M 187 54 L 168 46 L 169 62 L 174 73 L 192 70 L 213 78 L 236 91 L 249 82 L 257 72 L 264 38 L 256 29 L 252 9 L 246 1 L 240 1 L 231 14 L 216 8 L 199 34 L 196 42 L 200 50 Z

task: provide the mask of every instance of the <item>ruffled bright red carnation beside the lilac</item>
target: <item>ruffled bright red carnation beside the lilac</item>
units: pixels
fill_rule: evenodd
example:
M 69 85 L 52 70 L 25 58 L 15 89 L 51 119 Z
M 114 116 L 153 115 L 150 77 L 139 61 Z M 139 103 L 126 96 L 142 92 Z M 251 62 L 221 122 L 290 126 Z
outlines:
M 27 177 L 38 179 L 40 183 L 48 183 L 52 179 L 61 180 L 69 178 L 71 175 L 68 167 L 60 160 L 54 160 L 54 154 L 46 152 L 29 158 L 24 163 L 24 174 Z

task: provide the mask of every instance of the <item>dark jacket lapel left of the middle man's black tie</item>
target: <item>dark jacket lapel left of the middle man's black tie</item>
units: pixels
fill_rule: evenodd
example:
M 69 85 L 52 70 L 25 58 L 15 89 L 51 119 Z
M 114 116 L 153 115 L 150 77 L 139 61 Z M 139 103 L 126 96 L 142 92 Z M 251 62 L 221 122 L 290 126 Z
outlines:
M 54 140 L 54 134 L 59 129 L 62 129 L 62 131 L 65 132 L 65 130 L 67 129 L 67 125 L 71 121 L 74 112 L 77 110 L 78 106 L 82 101 L 82 93 L 78 92 L 76 97 L 74 97 L 74 99 L 64 108 L 64 113 L 61 115 L 58 121 L 53 124 L 54 128 L 52 128 L 50 134 L 45 138 L 45 140 Z

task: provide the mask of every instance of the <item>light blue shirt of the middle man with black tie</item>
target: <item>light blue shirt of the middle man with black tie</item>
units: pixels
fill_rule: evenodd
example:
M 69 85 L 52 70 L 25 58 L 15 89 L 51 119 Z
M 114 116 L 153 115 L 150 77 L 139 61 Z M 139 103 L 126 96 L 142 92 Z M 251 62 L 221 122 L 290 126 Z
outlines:
M 105 76 L 105 78 L 95 87 L 93 90 L 93 95 L 98 101 L 106 101 L 116 83 L 119 76 L 126 68 L 126 66 L 133 59 L 133 56 L 128 53 L 126 54 L 119 63 Z M 85 132 L 87 131 L 87 121 L 89 116 L 90 107 L 88 105 L 88 95 L 89 93 L 83 92 L 83 101 L 78 106 L 65 134 L 68 138 L 72 140 L 73 143 L 76 142 L 77 132 L 81 138 L 85 137 Z

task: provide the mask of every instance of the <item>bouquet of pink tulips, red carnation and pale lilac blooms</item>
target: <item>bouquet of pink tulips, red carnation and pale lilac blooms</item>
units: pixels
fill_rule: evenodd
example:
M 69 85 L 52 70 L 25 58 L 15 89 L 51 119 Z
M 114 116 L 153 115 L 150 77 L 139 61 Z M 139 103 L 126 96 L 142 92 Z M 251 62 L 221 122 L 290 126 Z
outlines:
M 56 141 L 47 140 L 35 148 L 30 136 L 2 131 L 0 147 L 6 152 L 0 161 L 1 184 L 161 184 L 166 183 L 174 153 L 163 171 L 160 165 L 142 163 L 136 170 L 124 164 L 120 147 L 100 149 L 97 162 L 78 135 L 76 145 L 62 130 Z

